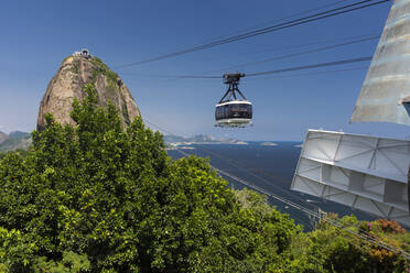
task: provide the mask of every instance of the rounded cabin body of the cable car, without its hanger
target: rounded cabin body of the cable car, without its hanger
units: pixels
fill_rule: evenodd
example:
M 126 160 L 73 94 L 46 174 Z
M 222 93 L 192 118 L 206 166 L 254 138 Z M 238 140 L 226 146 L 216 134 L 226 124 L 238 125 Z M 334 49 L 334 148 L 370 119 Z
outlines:
M 217 127 L 247 127 L 252 121 L 252 103 L 247 100 L 231 100 L 216 105 Z

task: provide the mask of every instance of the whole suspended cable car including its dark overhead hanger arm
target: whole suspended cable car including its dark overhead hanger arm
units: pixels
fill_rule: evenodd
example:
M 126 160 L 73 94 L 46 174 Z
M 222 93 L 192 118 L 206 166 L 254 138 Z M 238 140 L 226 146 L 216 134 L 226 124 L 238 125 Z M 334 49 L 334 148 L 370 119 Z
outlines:
M 252 103 L 249 102 L 238 89 L 239 79 L 241 77 L 245 77 L 245 74 L 224 75 L 224 84 L 228 85 L 228 90 L 215 107 L 216 127 L 244 128 L 251 124 Z

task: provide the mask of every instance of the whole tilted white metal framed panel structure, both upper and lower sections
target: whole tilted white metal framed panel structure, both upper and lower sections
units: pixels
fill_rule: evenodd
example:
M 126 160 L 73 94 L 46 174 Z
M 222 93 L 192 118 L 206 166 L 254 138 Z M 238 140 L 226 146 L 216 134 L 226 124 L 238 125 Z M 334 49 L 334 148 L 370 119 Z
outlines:
M 410 141 L 310 130 L 291 189 L 410 227 Z

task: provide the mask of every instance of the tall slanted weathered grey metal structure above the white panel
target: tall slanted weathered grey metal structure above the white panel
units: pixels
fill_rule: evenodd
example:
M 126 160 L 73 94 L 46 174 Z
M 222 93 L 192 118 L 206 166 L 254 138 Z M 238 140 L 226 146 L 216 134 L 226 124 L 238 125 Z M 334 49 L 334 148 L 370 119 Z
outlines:
M 410 0 L 395 0 L 350 122 L 410 125 Z M 404 102 L 404 103 L 402 103 Z

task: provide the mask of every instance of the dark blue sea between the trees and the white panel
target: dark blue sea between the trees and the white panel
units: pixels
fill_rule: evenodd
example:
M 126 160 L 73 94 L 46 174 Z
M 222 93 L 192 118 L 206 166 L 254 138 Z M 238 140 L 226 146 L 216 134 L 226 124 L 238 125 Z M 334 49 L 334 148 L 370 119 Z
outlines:
M 235 175 L 251 185 L 263 188 L 269 193 L 284 197 L 310 210 L 320 209 L 335 212 L 339 216 L 355 215 L 360 220 L 373 220 L 375 217 L 349 207 L 323 200 L 321 198 L 290 190 L 294 170 L 298 165 L 301 142 L 274 142 L 278 145 L 262 145 L 263 142 L 248 142 L 247 145 L 236 144 L 193 144 L 191 149 L 184 149 L 187 154 L 208 157 L 211 164 L 226 173 Z M 175 150 L 169 150 L 173 159 L 184 156 Z M 244 184 L 224 176 L 229 186 L 236 189 L 246 187 Z M 248 187 L 250 188 L 250 187 Z M 312 230 L 316 220 L 293 207 L 269 197 L 269 203 L 294 219 L 295 223 L 302 225 L 305 231 Z

